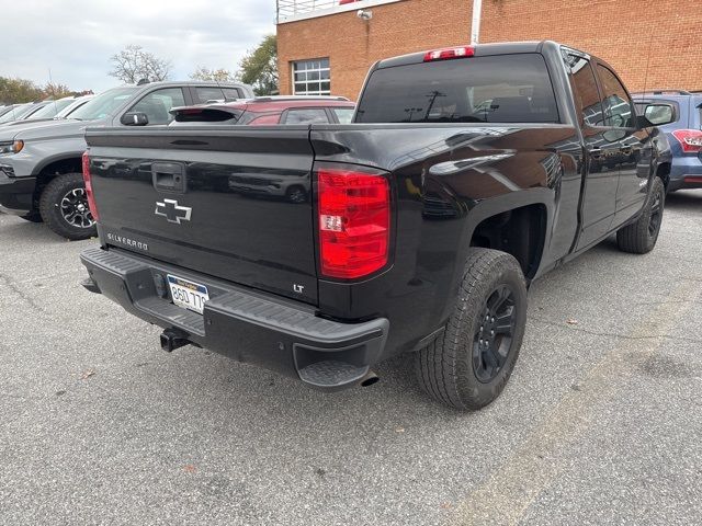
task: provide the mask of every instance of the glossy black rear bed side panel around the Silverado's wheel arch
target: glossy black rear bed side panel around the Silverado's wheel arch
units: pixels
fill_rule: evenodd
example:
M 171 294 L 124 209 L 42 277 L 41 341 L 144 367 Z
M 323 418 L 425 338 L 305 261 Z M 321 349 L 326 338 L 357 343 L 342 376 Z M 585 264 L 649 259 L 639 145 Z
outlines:
M 387 170 L 396 188 L 396 243 L 389 270 L 361 283 L 319 282 L 330 317 L 390 320 L 389 350 L 410 350 L 445 320 L 474 232 L 486 219 L 535 207 L 539 247 L 525 263 L 548 264 L 555 221 L 567 252 L 577 231 L 581 152 L 573 126 L 313 126 L 317 162 Z M 574 206 L 559 204 L 567 199 Z

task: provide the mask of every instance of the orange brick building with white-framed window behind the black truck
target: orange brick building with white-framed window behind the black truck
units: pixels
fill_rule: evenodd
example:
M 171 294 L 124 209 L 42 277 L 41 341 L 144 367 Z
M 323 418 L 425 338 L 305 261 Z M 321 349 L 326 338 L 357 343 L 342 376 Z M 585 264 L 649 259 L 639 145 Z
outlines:
M 483 0 L 480 43 L 553 39 L 610 62 L 632 91 L 702 90 L 689 0 Z M 472 0 L 279 0 L 282 94 L 355 100 L 378 59 L 467 44 Z M 362 9 L 370 20 L 359 18 Z

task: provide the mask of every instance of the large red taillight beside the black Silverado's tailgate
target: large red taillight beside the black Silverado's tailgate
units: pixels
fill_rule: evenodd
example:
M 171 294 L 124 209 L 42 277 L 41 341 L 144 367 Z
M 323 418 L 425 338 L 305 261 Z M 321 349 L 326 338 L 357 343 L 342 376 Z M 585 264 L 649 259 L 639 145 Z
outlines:
M 390 190 L 382 175 L 342 169 L 317 172 L 321 273 L 353 279 L 387 264 Z

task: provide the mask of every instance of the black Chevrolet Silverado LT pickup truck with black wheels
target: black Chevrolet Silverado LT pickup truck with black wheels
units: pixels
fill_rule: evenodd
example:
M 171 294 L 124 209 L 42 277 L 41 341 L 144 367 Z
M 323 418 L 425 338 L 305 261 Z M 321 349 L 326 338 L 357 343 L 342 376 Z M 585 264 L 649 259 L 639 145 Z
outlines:
M 210 124 L 88 130 L 83 286 L 167 351 L 316 388 L 415 352 L 431 396 L 482 408 L 513 370 L 529 284 L 612 232 L 648 252 L 660 229 L 665 137 L 605 62 L 553 42 L 382 60 L 350 125 Z

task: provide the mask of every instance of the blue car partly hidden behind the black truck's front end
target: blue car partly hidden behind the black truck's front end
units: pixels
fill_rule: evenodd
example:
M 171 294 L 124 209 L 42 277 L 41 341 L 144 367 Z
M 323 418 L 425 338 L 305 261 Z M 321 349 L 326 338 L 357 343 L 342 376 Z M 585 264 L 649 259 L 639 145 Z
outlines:
M 668 192 L 702 188 L 702 93 L 658 90 L 633 96 L 652 122 L 672 121 L 660 126 L 672 152 Z

